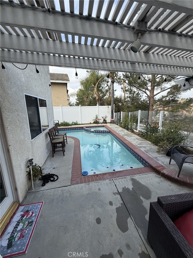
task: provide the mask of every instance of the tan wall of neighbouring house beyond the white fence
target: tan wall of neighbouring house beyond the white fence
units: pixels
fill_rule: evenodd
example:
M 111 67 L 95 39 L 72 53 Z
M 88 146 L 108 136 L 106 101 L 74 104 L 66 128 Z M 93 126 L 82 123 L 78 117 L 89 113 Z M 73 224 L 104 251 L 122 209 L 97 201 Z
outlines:
M 68 106 L 67 83 L 51 82 L 53 106 Z

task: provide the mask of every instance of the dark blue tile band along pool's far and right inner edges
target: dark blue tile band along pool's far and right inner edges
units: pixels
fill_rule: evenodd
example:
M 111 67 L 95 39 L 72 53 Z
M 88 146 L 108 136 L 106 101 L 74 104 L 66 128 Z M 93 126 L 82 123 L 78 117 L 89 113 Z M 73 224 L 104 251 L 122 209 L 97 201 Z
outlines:
M 96 127 L 96 126 L 93 126 L 93 127 Z M 92 129 L 92 126 L 90 126 L 89 128 Z M 118 142 L 121 143 L 122 146 L 125 147 L 125 149 L 128 150 L 128 152 L 130 152 L 144 167 L 149 167 L 149 164 L 143 159 L 141 158 L 136 152 L 134 152 L 134 150 L 132 150 L 129 146 L 127 146 L 121 139 L 119 139 L 119 137 L 115 136 L 111 131 L 109 130 L 106 130 L 106 131 L 102 131 L 102 130 L 94 130 L 94 131 L 91 131 L 91 129 L 89 128 L 86 128 L 86 127 L 73 127 L 73 128 L 61 128 L 58 130 L 60 132 L 63 132 L 63 131 L 74 131 L 74 130 L 84 130 L 88 133 L 110 133 Z M 67 135 L 68 136 L 68 135 Z

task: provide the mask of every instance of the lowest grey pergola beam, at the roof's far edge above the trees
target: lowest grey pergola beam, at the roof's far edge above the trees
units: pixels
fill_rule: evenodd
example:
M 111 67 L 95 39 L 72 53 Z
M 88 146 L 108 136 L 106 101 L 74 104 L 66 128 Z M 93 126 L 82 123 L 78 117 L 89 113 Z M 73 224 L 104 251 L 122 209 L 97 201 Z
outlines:
M 131 64 L 84 58 L 62 57 L 49 54 L 33 54 L 0 50 L 1 60 L 10 63 L 36 64 L 60 67 L 76 67 L 90 70 L 110 70 L 118 72 L 170 74 L 189 76 L 193 74 L 191 68 L 164 67 L 147 64 Z

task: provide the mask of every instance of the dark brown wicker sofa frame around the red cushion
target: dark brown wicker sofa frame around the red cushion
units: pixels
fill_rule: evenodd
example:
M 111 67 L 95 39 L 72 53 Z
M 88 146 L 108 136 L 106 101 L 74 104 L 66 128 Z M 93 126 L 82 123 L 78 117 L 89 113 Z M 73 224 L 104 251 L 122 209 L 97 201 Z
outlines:
M 150 203 L 147 239 L 157 258 L 192 258 L 193 249 L 173 224 L 193 208 L 193 192 L 157 198 Z

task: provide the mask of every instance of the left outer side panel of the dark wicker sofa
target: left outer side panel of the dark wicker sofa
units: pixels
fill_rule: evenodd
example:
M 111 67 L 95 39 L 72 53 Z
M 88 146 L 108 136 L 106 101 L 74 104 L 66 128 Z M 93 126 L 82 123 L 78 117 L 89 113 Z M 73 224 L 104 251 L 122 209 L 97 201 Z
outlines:
M 150 203 L 147 239 L 157 258 L 188 258 L 193 250 L 157 202 Z

